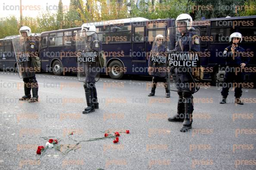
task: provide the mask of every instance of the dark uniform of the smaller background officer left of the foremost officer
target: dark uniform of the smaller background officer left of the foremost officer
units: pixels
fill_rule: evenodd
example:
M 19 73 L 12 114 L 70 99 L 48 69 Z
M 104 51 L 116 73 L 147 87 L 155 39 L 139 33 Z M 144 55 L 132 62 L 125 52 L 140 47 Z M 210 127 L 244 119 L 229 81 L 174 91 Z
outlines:
M 161 53 L 165 52 L 165 46 L 161 45 L 161 46 L 153 46 L 153 48 L 151 49 L 151 53 L 149 56 L 149 62 L 148 62 L 148 67 L 152 67 L 153 71 L 151 72 L 151 76 L 153 76 L 152 78 L 152 88 L 151 88 L 151 93 L 149 94 L 149 96 L 153 96 L 155 94 L 156 91 L 156 85 L 157 82 L 159 82 L 161 79 L 164 82 L 164 86 L 165 86 L 165 93 L 166 93 L 166 97 L 170 97 L 170 90 L 169 90 L 169 81 L 167 79 L 167 71 L 163 70 L 163 68 L 166 68 L 166 58 L 165 58 L 165 63 L 159 63 L 159 62 L 155 62 L 155 61 L 151 61 L 151 57 L 153 54 L 156 55 L 163 55 Z M 161 68 L 162 70 L 159 71 L 159 68 Z

